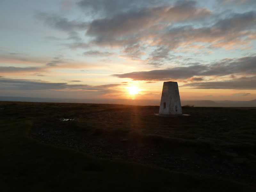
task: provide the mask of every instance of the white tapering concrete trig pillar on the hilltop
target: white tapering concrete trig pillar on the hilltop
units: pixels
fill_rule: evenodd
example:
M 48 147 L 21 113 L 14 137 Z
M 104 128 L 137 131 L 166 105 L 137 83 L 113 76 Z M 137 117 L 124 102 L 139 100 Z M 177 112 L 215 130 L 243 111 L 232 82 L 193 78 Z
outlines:
M 159 115 L 182 115 L 177 82 L 164 82 Z

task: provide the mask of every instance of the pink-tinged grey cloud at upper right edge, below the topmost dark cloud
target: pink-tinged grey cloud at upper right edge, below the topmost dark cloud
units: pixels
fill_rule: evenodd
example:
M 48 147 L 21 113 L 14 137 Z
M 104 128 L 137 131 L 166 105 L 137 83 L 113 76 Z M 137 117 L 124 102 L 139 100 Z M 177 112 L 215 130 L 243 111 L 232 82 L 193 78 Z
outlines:
M 233 44 L 248 44 L 248 37 L 254 34 L 256 27 L 255 12 L 233 14 L 229 18 L 219 20 L 211 27 L 194 28 L 182 26 L 170 28 L 168 32 L 158 37 L 158 46 L 176 49 L 184 42 L 188 45 L 196 42 L 208 43 L 212 47 L 234 46 Z M 250 29 L 252 29 L 250 31 Z M 245 31 L 247 30 L 247 31 Z

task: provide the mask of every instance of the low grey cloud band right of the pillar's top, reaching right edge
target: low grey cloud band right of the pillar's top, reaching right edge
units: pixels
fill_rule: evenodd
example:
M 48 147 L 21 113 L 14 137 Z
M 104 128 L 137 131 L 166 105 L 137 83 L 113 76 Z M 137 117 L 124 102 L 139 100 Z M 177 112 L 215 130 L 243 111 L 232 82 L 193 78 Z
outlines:
M 190 86 L 194 89 L 237 89 L 237 90 L 255 90 L 256 76 L 238 78 L 228 81 L 198 82 L 189 83 L 183 86 Z M 244 95 L 246 96 L 246 95 Z

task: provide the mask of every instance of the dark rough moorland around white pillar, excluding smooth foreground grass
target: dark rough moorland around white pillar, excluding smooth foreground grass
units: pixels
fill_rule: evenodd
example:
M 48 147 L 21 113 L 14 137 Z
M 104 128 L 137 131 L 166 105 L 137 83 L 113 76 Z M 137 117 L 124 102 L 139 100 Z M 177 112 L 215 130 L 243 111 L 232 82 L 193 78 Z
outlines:
M 29 119 L 28 137 L 41 143 L 192 175 L 194 183 L 210 177 L 256 185 L 256 108 L 187 106 L 182 111 L 190 116 L 161 117 L 155 115 L 159 106 L 0 102 L 0 107 L 5 123 Z

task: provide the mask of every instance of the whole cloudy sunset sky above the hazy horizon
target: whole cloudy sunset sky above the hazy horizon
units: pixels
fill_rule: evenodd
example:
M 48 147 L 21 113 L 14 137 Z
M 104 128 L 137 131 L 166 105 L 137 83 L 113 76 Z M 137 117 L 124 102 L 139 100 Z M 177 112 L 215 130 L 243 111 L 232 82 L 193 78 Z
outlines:
M 255 0 L 1 0 L 0 96 L 256 99 Z

